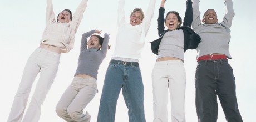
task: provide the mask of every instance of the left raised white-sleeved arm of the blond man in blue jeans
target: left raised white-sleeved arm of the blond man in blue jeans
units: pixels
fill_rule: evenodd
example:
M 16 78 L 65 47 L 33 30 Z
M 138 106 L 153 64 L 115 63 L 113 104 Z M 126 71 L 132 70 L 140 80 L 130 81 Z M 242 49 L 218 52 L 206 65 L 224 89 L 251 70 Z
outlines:
M 125 0 L 119 0 L 117 7 L 117 24 L 118 27 L 125 22 Z

